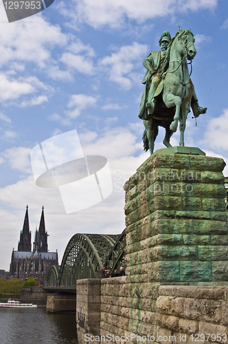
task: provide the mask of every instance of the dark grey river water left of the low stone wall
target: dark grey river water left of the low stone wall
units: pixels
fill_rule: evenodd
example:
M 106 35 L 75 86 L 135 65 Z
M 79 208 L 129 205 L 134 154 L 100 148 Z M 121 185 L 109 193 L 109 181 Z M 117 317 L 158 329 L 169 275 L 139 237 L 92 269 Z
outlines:
M 49 314 L 45 308 L 0 308 L 1 344 L 78 344 L 76 314 Z

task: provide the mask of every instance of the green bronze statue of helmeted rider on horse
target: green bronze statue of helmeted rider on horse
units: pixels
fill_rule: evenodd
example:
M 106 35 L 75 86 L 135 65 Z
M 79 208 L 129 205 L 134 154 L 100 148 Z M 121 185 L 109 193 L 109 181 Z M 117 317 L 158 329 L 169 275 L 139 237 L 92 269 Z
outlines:
M 145 84 L 141 97 L 139 118 L 144 120 L 144 149 L 150 154 L 154 151 L 158 127 L 166 129 L 163 144 L 172 147 L 170 138 L 180 122 L 180 146 L 184 146 L 184 131 L 190 107 L 194 117 L 205 114 L 207 108 L 198 105 L 194 85 L 188 72 L 187 60 L 196 56 L 194 35 L 185 29 L 176 33 L 171 39 L 170 33 L 164 31 L 159 40 L 161 52 L 150 52 L 144 60 L 147 71 L 142 83 Z

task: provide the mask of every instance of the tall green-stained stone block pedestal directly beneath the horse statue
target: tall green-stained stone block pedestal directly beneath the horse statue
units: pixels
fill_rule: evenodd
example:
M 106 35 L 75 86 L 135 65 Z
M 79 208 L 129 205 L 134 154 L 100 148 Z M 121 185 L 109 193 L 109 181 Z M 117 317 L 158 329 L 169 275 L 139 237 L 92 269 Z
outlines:
M 131 282 L 228 284 L 221 158 L 154 153 L 124 185 Z

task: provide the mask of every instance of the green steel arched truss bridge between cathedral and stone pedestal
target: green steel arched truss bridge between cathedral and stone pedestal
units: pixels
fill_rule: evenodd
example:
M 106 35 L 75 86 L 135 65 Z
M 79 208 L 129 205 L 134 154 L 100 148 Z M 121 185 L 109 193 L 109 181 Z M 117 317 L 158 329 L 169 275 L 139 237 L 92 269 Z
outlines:
M 60 266 L 52 266 L 48 287 L 76 286 L 77 279 L 100 277 L 105 265 L 114 272 L 124 266 L 125 230 L 120 235 L 75 234 L 69 240 Z

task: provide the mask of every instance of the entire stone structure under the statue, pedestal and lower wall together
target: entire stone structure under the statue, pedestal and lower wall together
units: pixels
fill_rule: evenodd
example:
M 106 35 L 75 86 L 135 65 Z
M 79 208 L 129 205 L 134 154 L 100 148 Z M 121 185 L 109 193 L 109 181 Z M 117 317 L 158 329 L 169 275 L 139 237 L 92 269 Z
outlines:
M 80 344 L 227 343 L 224 166 L 154 153 L 126 182 L 126 277 L 77 282 Z

